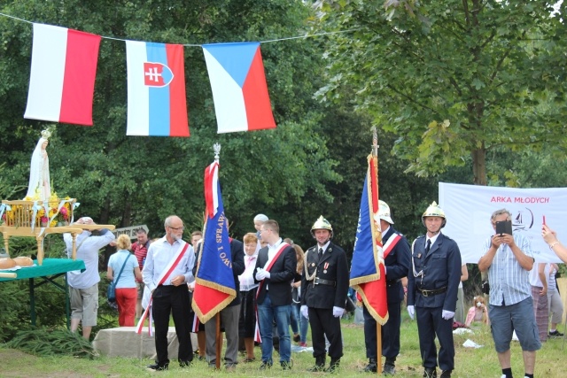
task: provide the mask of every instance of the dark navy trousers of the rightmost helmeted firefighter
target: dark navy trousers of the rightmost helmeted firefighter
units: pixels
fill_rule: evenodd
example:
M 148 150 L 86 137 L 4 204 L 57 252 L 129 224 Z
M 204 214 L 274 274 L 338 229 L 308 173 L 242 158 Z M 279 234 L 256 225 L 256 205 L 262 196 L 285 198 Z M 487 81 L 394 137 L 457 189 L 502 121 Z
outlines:
M 441 370 L 454 369 L 453 319 L 441 317 L 441 307 L 416 307 L 419 349 L 422 352 L 423 367 L 437 366 L 437 346 L 439 339 L 439 367 Z

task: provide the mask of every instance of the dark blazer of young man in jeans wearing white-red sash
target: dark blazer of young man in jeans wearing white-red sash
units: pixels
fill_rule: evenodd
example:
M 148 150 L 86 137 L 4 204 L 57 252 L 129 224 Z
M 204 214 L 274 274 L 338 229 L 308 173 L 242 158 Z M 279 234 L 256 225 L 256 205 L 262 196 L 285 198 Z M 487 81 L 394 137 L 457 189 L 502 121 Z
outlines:
M 279 247 L 278 247 L 279 249 Z M 258 252 L 256 258 L 256 266 L 254 266 L 254 282 L 256 280 L 256 272 L 259 267 L 263 268 L 268 262 L 268 247 L 262 248 Z M 272 305 L 291 305 L 291 282 L 295 277 L 298 259 L 295 256 L 295 250 L 291 245 L 285 247 L 282 254 L 276 259 L 272 268 L 269 270 L 270 277 L 264 279 L 259 291 L 257 303 L 261 305 L 266 298 L 266 287 L 268 286 L 269 299 Z

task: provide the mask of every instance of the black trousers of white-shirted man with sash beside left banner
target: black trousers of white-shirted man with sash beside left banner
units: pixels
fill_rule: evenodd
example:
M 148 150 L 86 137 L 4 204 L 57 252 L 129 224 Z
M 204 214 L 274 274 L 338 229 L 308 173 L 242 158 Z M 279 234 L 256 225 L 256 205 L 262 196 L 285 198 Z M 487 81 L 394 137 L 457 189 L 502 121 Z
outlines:
M 161 366 L 169 363 L 167 357 L 167 331 L 169 328 L 169 315 L 173 315 L 175 333 L 179 340 L 179 362 L 190 362 L 193 359 L 191 345 L 190 299 L 187 294 L 187 285 L 158 286 L 153 290 L 151 299 L 151 314 L 156 328 L 156 354 L 157 363 Z

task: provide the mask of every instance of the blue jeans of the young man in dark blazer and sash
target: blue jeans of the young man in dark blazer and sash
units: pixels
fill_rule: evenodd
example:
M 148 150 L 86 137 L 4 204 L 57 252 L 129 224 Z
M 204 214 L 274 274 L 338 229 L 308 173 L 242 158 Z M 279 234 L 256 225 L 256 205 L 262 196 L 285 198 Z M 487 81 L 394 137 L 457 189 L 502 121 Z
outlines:
M 269 293 L 264 302 L 258 305 L 258 324 L 262 338 L 262 362 L 272 362 L 272 351 L 274 350 L 272 328 L 274 321 L 276 321 L 277 336 L 280 339 L 280 362 L 290 361 L 290 314 L 291 305 L 272 305 Z

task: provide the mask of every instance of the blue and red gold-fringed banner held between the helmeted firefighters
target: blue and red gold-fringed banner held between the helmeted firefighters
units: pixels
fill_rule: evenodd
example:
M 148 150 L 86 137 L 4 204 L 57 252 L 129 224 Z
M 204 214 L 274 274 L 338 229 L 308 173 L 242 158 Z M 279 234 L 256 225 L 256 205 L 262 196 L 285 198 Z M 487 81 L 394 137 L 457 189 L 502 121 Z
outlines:
M 386 274 L 382 233 L 378 218 L 377 156 L 369 155 L 361 211 L 354 240 L 350 286 L 361 296 L 372 317 L 381 325 L 388 321 Z

